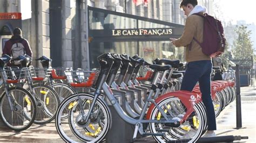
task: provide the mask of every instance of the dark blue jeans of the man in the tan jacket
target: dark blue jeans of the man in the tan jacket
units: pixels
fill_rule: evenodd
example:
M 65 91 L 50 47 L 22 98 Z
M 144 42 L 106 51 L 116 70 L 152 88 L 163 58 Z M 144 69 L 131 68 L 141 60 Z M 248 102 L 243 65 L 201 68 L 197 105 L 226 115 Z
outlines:
M 210 60 L 189 62 L 180 90 L 192 91 L 197 82 L 199 82 L 208 117 L 208 130 L 216 130 L 215 112 L 211 97 L 211 72 L 212 61 Z

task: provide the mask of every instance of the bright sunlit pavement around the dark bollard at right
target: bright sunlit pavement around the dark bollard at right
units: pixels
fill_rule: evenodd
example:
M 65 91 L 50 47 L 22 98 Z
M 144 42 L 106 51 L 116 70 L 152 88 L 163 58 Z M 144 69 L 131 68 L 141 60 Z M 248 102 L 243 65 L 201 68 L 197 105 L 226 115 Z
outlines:
M 217 136 L 222 135 L 241 135 L 247 136 L 248 139 L 243 139 L 234 142 L 256 142 L 256 87 L 241 87 L 241 115 L 242 128 L 237 127 L 236 121 L 236 102 L 230 105 L 220 113 L 217 118 Z

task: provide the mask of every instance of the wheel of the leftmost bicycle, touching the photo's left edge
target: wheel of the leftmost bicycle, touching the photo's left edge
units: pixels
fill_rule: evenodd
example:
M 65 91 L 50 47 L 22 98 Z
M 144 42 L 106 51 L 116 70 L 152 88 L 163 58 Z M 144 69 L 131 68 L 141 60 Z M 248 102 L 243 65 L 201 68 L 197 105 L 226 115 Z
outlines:
M 11 110 L 8 95 L 3 93 L 1 103 L 1 119 L 3 123 L 14 131 L 23 131 L 29 128 L 36 118 L 36 102 L 27 90 L 19 87 L 8 89 L 11 98 Z

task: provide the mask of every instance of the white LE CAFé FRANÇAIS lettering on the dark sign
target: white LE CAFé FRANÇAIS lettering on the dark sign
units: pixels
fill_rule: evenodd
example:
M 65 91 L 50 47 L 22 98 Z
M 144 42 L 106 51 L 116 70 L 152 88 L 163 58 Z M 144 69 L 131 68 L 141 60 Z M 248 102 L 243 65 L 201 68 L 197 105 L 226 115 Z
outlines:
M 112 30 L 113 36 L 134 36 L 134 35 L 171 35 L 172 28 L 150 28 L 150 29 L 122 29 Z

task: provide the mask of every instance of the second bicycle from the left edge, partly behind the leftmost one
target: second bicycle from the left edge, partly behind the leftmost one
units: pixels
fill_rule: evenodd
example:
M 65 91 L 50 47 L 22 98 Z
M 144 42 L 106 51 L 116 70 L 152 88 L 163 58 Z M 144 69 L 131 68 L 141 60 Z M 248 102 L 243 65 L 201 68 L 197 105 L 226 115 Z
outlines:
M 21 69 L 13 69 L 16 75 L 19 75 L 18 79 L 24 78 L 28 84 L 28 90 L 36 101 L 37 115 L 34 120 L 35 124 L 50 123 L 55 118 L 57 108 L 59 106 L 59 98 L 55 90 L 48 85 L 35 84 L 33 81 L 42 81 L 43 78 L 37 78 L 31 76 L 30 69 L 28 68 L 31 62 L 31 57 L 28 55 L 19 55 L 18 58 L 12 59 L 13 61 L 21 61 Z M 23 75 L 23 76 L 20 76 Z M 27 117 L 29 118 L 29 117 Z

